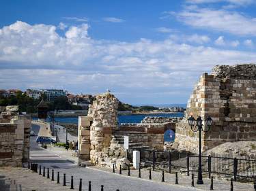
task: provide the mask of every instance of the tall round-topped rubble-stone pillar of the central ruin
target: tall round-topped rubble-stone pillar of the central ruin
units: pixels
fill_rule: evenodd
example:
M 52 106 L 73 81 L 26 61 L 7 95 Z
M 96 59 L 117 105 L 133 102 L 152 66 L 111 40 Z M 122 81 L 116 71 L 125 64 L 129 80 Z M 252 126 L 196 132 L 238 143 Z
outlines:
M 111 145 L 113 131 L 117 128 L 118 100 L 106 92 L 96 96 L 96 101 L 89 105 L 88 117 L 90 126 L 90 158 L 93 164 L 98 164 L 103 156 L 103 148 Z

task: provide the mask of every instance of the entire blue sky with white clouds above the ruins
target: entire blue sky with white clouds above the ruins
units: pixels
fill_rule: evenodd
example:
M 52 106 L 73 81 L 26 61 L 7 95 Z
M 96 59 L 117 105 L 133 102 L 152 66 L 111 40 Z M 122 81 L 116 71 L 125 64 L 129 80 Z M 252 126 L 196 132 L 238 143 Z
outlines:
M 256 0 L 1 0 L 0 88 L 186 103 L 215 65 L 256 63 Z

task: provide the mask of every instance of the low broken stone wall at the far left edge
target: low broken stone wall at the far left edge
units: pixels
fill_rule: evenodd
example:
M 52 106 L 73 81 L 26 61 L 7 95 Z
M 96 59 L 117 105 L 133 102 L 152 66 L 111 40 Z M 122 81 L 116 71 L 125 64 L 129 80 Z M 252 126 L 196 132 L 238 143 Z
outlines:
M 22 167 L 29 161 L 31 118 L 18 114 L 18 106 L 0 107 L 0 167 Z

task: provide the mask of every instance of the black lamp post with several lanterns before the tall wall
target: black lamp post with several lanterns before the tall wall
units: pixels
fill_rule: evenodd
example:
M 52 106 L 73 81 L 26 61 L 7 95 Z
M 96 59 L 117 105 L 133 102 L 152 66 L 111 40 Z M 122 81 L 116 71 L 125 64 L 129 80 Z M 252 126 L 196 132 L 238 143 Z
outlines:
M 197 124 L 195 124 L 197 122 Z M 212 118 L 208 116 L 205 120 L 205 125 L 207 128 L 203 129 L 203 121 L 201 117 L 199 116 L 197 120 L 193 118 L 193 116 L 190 116 L 188 118 L 188 124 L 191 127 L 191 130 L 194 132 L 199 131 L 199 166 L 198 166 L 198 176 L 197 176 L 197 184 L 203 184 L 203 175 L 202 175 L 202 156 L 201 156 L 201 131 L 208 132 L 210 130 L 210 126 L 212 125 Z

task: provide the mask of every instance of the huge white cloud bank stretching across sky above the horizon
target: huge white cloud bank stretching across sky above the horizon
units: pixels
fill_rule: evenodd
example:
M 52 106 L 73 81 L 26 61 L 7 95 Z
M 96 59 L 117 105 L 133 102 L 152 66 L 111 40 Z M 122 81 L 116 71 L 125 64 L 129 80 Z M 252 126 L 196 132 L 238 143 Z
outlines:
M 76 93 L 110 88 L 121 92 L 124 101 L 137 97 L 141 103 L 184 103 L 199 75 L 214 65 L 256 60 L 255 52 L 192 46 L 169 38 L 96 40 L 88 29 L 87 24 L 71 26 L 64 37 L 46 24 L 18 21 L 0 29 L 1 88 L 65 88 Z M 154 92 L 163 97 L 159 100 Z

